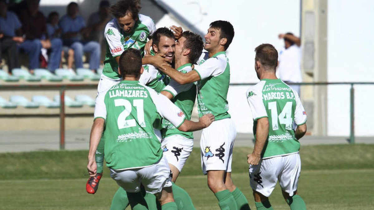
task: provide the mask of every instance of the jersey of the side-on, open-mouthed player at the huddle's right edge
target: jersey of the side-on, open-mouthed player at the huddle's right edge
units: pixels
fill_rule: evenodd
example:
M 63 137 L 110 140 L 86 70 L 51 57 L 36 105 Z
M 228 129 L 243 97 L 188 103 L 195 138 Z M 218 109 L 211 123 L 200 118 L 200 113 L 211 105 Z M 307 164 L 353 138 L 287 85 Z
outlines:
M 230 83 L 230 65 L 225 52 L 218 52 L 211 58 L 202 55 L 199 66 L 195 66 L 200 80 L 197 81 L 197 108 L 199 116 L 213 114 L 215 120 L 230 118 L 227 92 Z M 201 59 L 203 58 L 203 59 Z M 206 59 L 206 60 L 205 60 Z

